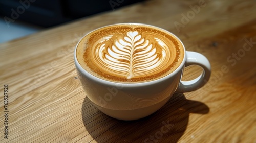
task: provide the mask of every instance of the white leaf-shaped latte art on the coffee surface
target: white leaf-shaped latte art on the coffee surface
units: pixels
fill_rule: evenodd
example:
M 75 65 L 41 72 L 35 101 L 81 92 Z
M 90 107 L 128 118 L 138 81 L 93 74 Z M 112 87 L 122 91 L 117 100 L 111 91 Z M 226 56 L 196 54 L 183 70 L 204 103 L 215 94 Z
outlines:
M 131 79 L 152 73 L 166 62 L 167 46 L 158 38 L 150 41 L 137 31 L 129 31 L 122 39 L 108 42 L 112 36 L 102 38 L 95 50 L 95 58 L 106 70 Z

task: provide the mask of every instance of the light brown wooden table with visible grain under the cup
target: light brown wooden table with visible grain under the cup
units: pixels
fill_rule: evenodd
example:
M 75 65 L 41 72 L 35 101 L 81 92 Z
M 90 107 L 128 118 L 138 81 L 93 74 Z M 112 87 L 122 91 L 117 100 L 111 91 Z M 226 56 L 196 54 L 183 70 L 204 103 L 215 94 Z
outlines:
M 0 44 L 0 142 L 256 142 L 255 1 L 203 2 L 115 6 L 115 11 Z M 209 82 L 175 94 L 141 120 L 119 121 L 100 112 L 80 86 L 73 51 L 84 34 L 120 22 L 173 32 L 188 51 L 209 59 Z M 183 79 L 193 79 L 198 69 L 186 68 Z

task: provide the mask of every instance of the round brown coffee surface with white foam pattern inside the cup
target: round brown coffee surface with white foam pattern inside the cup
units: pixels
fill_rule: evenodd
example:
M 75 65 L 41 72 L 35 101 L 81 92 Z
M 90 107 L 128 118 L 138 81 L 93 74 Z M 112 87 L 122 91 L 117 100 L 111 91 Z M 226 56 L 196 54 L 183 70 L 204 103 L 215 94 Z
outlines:
M 172 73 L 183 60 L 184 47 L 163 29 L 123 23 L 87 34 L 76 55 L 80 65 L 98 78 L 137 83 Z

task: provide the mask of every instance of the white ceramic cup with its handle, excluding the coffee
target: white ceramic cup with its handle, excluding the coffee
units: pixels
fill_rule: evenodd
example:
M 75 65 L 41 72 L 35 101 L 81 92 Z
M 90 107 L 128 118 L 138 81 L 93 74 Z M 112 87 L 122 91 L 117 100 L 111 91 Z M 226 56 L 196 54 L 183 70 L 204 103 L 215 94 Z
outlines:
M 176 37 L 168 31 L 165 32 Z M 184 45 L 182 47 L 185 51 Z M 209 80 L 211 73 L 210 63 L 205 56 L 185 51 L 179 67 L 165 77 L 142 83 L 112 82 L 95 77 L 85 70 L 77 60 L 76 50 L 77 46 L 74 52 L 75 66 L 86 96 L 100 111 L 119 120 L 137 120 L 156 112 L 173 94 L 190 92 L 202 87 Z M 202 74 L 194 80 L 181 81 L 184 67 L 189 65 L 201 66 Z

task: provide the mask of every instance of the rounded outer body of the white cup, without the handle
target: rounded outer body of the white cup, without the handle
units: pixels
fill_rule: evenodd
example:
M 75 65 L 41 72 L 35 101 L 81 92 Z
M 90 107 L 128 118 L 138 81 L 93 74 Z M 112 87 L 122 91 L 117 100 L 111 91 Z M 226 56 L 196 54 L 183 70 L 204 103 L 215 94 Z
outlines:
M 95 80 L 96 77 L 88 77 L 89 73 L 75 63 L 86 96 L 100 111 L 120 120 L 137 120 L 160 109 L 177 89 L 183 69 L 177 69 L 168 78 L 153 82 L 110 84 L 101 79 Z

